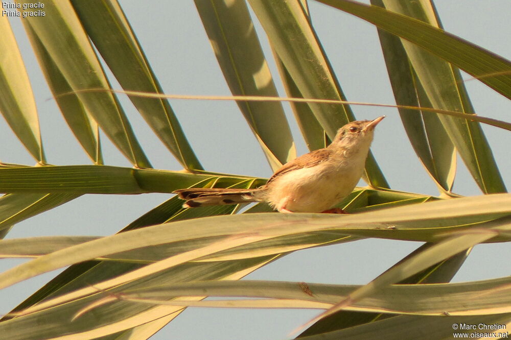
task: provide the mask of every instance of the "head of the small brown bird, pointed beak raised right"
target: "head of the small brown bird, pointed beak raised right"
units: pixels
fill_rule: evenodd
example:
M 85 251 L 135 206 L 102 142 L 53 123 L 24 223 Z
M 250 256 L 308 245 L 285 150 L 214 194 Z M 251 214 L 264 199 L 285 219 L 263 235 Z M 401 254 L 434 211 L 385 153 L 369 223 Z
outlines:
M 355 120 L 355 122 L 344 125 L 337 131 L 332 144 L 332 147 L 343 148 L 360 148 L 367 146 L 373 141 L 373 133 L 375 127 L 385 116 L 380 116 L 373 120 Z

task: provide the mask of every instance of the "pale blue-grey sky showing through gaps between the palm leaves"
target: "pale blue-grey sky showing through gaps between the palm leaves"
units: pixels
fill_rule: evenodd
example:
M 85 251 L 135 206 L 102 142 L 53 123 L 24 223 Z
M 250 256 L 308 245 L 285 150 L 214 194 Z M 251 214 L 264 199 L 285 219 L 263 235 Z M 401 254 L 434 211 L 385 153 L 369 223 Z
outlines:
M 368 3 L 368 1 L 364 1 Z M 120 0 L 162 86 L 169 94 L 230 95 L 192 1 Z M 436 6 L 448 32 L 511 58 L 508 0 L 440 0 Z M 314 1 L 313 24 L 348 100 L 394 104 L 376 28 Z M 285 95 L 259 23 L 254 19 L 274 80 Z M 45 152 L 49 163 L 90 164 L 52 100 L 19 19 L 11 20 L 32 82 Z M 470 76 L 463 74 L 464 79 Z M 114 88 L 120 88 L 110 78 Z M 509 121 L 509 101 L 477 80 L 466 83 L 475 110 L 482 116 Z M 155 168 L 180 170 L 178 162 L 147 127 L 129 100 L 120 96 L 138 139 Z M 269 177 L 271 169 L 234 102 L 173 100 L 171 105 L 202 165 L 213 172 Z M 298 154 L 307 152 L 288 104 L 284 104 Z M 373 153 L 393 189 L 437 195 L 415 157 L 396 110 L 352 109 L 359 119 L 387 118 L 378 126 Z M 268 113 L 271 119 L 271 113 Z M 228 122 L 228 123 L 227 123 Z M 509 132 L 483 125 L 507 188 L 511 188 Z M 130 166 L 106 139 L 105 164 Z M 21 143 L 0 119 L 0 159 L 34 164 Z M 233 161 L 235 160 L 235 161 Z M 361 185 L 365 185 L 361 183 Z M 461 161 L 454 187 L 461 195 L 480 195 Z M 170 195 L 86 195 L 17 224 L 6 238 L 41 235 L 110 235 Z M 295 252 L 247 276 L 248 279 L 364 284 L 419 247 L 419 242 L 366 239 Z M 479 245 L 453 281 L 472 281 L 511 273 L 509 244 Z M 322 260 L 328 259 L 328 260 Z M 21 260 L 2 260 L 5 271 Z M 9 312 L 56 273 L 4 289 L 0 314 Z M 189 309 L 152 339 L 283 339 L 317 310 Z

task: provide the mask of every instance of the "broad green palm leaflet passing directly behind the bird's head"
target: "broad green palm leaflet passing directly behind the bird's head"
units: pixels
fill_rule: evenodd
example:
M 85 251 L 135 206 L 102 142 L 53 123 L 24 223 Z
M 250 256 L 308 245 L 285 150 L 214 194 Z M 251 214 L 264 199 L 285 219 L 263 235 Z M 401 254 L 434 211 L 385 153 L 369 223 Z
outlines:
M 301 3 L 249 0 L 249 4 L 301 94 L 307 98 L 344 100 Z M 331 140 L 337 129 L 355 120 L 346 105 L 309 103 L 309 106 Z M 373 187 L 388 187 L 372 153 L 366 161 L 366 178 Z

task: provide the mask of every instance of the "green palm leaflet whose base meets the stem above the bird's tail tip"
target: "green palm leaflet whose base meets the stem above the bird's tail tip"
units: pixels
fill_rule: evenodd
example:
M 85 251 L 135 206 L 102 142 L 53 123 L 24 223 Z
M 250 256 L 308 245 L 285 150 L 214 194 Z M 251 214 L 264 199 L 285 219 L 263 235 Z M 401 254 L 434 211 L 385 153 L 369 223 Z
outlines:
M 72 5 L 86 33 L 124 89 L 163 93 L 116 0 L 72 1 Z M 184 168 L 202 169 L 168 101 L 136 96 L 129 96 L 129 99 Z

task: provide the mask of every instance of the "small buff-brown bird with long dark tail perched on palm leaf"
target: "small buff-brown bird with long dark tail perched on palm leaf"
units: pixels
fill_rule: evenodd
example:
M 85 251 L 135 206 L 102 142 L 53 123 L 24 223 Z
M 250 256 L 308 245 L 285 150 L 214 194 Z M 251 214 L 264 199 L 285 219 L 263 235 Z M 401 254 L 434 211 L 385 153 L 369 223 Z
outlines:
M 174 193 L 186 200 L 184 208 L 264 201 L 279 212 L 343 213 L 332 207 L 348 196 L 360 180 L 374 129 L 383 118 L 344 125 L 327 148 L 284 164 L 259 188 L 190 188 Z

